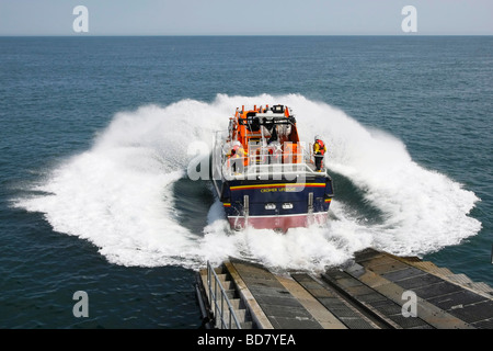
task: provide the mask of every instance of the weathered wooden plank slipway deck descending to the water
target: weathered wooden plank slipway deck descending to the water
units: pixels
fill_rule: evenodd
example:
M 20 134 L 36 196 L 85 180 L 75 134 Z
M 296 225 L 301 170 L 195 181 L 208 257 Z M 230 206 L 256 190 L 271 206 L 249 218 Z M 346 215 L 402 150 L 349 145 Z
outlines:
M 416 258 L 365 249 L 344 268 L 319 275 L 276 275 L 237 259 L 223 268 L 256 328 L 493 328 L 490 286 Z M 403 313 L 412 303 L 410 294 L 415 298 L 413 316 Z

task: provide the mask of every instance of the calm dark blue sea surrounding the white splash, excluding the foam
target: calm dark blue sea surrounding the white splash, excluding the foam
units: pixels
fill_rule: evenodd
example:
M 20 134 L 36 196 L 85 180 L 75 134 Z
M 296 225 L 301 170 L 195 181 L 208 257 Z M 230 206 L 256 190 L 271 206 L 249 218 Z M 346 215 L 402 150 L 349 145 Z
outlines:
M 116 113 L 217 94 L 301 94 L 401 139 L 480 199 L 482 229 L 424 259 L 493 284 L 492 82 L 491 36 L 0 37 L 0 327 L 200 326 L 193 270 L 108 263 L 12 204 Z

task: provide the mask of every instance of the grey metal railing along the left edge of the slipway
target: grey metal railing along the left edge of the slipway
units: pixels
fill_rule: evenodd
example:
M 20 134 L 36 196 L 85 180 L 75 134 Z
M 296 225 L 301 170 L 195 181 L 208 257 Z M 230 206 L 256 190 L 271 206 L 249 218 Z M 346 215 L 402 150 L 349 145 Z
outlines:
M 207 286 L 209 290 L 209 305 L 211 306 L 211 308 L 214 308 L 216 327 L 218 326 L 218 324 L 220 324 L 220 329 L 241 329 L 240 321 L 238 320 L 238 316 L 234 313 L 231 302 L 226 294 L 225 287 L 219 281 L 219 278 L 217 276 L 209 261 L 207 261 Z M 218 302 L 218 299 L 220 302 Z M 227 306 L 225 306 L 225 303 Z M 229 312 L 227 318 L 225 318 L 225 309 Z

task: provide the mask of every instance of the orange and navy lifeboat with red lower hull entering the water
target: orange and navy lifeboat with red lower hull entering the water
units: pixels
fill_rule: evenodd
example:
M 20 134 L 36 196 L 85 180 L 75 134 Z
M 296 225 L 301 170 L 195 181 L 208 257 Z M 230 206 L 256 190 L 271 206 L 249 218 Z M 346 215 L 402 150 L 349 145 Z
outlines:
M 286 233 L 328 220 L 332 178 L 323 165 L 317 169 L 296 123 L 285 105 L 242 106 L 216 133 L 211 179 L 232 229 Z

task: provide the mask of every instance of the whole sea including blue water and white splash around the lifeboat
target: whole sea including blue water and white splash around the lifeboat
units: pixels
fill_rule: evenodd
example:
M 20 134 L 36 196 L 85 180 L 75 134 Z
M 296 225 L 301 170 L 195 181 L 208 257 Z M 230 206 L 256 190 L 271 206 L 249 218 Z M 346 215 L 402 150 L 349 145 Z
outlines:
M 492 36 L 0 37 L 0 82 L 1 328 L 197 329 L 195 273 L 228 257 L 375 247 L 493 285 Z M 231 231 L 187 168 L 277 103 L 328 145 L 330 220 Z

